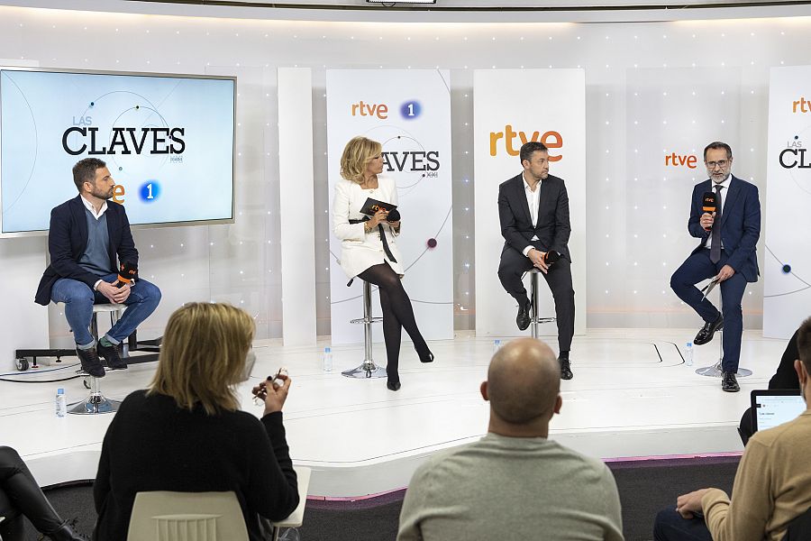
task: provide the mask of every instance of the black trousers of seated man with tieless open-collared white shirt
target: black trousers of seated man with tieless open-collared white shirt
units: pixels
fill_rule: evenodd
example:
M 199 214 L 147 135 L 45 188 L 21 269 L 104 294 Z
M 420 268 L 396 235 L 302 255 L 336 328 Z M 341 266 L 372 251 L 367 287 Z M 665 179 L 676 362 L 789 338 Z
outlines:
M 498 265 L 498 279 L 518 304 L 529 300 L 521 277 L 531 271 L 533 262 L 512 246 L 505 246 Z M 555 301 L 555 317 L 558 321 L 558 348 L 561 352 L 571 349 L 574 335 L 574 289 L 571 285 L 571 263 L 565 258 L 552 264 L 549 272 L 543 275 Z

